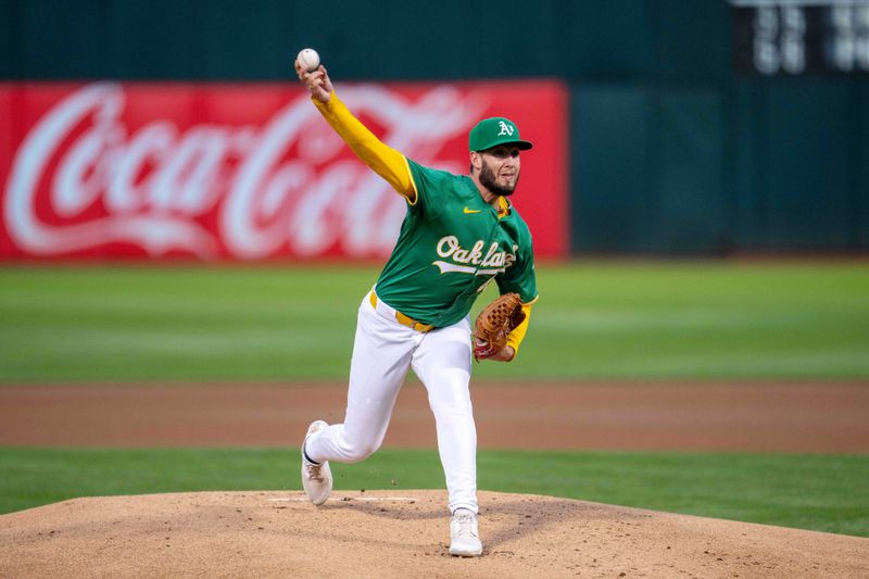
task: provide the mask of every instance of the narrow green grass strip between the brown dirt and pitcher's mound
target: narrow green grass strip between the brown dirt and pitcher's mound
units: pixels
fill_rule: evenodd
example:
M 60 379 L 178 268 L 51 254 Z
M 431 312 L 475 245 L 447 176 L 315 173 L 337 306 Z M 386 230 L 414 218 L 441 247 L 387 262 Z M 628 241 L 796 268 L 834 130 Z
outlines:
M 0 449 L 0 513 L 83 495 L 300 490 L 297 452 Z M 478 462 L 486 490 L 869 537 L 869 456 L 483 451 Z M 339 490 L 444 488 L 434 451 L 383 449 L 332 471 Z

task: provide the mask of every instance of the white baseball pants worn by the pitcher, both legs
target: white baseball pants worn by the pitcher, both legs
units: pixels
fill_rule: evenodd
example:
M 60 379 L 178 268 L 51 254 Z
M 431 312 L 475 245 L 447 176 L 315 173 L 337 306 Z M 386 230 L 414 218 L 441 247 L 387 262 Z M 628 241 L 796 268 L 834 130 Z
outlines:
M 470 403 L 470 320 L 429 332 L 401 325 L 395 311 L 369 295 L 360 305 L 350 366 L 347 415 L 308 439 L 316 462 L 356 463 L 383 442 L 410 368 L 425 385 L 438 430 L 450 511 L 477 513 L 477 428 Z

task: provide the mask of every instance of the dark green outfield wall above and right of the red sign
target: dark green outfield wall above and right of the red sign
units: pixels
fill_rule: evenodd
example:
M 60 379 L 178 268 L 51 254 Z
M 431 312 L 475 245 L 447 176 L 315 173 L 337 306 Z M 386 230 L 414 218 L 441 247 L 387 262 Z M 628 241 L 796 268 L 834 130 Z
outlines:
M 869 46 L 858 10 L 857 48 Z M 725 0 L 360 0 L 335 11 L 8 0 L 0 78 L 286 83 L 303 46 L 342 84 L 555 78 L 569 101 L 571 252 L 865 253 L 869 75 L 736 74 L 733 13 Z

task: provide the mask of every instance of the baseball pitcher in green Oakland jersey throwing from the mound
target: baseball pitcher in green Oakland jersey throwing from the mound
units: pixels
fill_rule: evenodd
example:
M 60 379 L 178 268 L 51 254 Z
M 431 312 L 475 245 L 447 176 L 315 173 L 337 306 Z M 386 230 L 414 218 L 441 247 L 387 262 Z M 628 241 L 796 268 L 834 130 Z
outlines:
M 302 483 L 315 505 L 329 498 L 329 462 L 355 463 L 386 436 L 408 369 L 425 385 L 446 478 L 450 553 L 482 553 L 477 524 L 477 431 L 471 357 L 516 356 L 537 300 L 528 226 L 509 203 L 531 149 L 507 118 L 484 118 L 468 136 L 469 175 L 421 166 L 388 147 L 344 106 L 326 68 L 295 62 L 301 83 L 326 122 L 366 165 L 406 201 L 395 248 L 360 304 L 343 424 L 314 421 L 302 443 Z M 470 307 L 490 281 L 501 299 Z

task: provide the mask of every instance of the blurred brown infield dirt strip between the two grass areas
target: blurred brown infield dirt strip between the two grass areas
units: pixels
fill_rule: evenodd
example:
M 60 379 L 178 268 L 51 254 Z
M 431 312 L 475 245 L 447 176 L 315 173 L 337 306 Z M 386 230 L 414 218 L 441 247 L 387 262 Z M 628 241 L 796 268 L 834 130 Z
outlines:
M 869 453 L 866 382 L 476 382 L 471 398 L 482 449 Z M 336 382 L 3 386 L 0 444 L 294 448 L 345 404 Z M 437 448 L 418 382 L 383 444 Z

